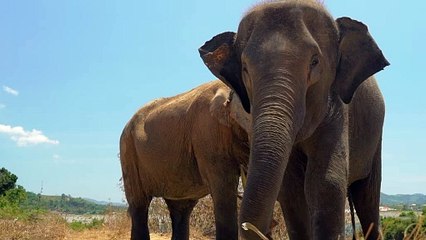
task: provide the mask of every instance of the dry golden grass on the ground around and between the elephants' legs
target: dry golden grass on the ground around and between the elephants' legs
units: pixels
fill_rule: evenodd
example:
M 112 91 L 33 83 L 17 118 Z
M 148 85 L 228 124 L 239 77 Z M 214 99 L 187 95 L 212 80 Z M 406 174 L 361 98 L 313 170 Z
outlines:
M 274 220 L 278 223 L 273 228 L 274 239 L 288 239 L 281 209 L 276 204 Z M 416 226 L 411 226 L 407 231 L 405 240 L 426 239 L 426 233 L 420 230 L 424 217 Z M 118 240 L 130 239 L 131 222 L 125 211 L 109 212 L 105 215 L 102 226 L 96 229 L 75 231 L 69 228 L 65 220 L 56 213 L 38 215 L 27 221 L 14 219 L 0 219 L 0 240 L 15 239 L 92 239 L 92 240 Z M 152 240 L 171 238 L 171 220 L 167 206 L 161 198 L 152 201 L 149 210 L 149 228 Z M 411 235 L 410 235 L 411 234 Z M 210 197 L 200 199 L 191 215 L 190 239 L 214 239 L 215 223 L 213 204 Z M 362 238 L 359 238 L 362 239 Z

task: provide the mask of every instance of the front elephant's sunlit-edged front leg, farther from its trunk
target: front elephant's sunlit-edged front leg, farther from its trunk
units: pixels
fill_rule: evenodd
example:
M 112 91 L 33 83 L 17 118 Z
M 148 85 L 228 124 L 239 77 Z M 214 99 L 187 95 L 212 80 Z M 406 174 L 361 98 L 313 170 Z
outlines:
M 305 196 L 312 239 L 344 239 L 348 188 L 347 142 L 338 132 L 319 129 L 307 149 Z

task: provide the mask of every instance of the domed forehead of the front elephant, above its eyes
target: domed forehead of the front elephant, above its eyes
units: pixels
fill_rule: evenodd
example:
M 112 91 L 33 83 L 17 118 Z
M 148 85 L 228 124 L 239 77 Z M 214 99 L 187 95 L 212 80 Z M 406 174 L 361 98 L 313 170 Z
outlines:
M 329 32 L 333 22 L 321 6 L 293 2 L 263 4 L 241 21 L 237 45 L 242 59 L 262 62 L 262 55 L 267 60 L 270 54 L 300 57 L 307 55 L 303 54 L 306 50 L 321 52 L 317 36 L 312 34 Z

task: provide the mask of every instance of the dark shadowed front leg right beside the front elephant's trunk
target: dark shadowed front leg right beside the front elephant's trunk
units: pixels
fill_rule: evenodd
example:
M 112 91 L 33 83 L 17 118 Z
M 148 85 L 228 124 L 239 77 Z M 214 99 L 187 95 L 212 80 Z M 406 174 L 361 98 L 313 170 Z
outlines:
M 278 195 L 290 239 L 311 239 L 308 205 L 304 192 L 306 156 L 293 151 Z

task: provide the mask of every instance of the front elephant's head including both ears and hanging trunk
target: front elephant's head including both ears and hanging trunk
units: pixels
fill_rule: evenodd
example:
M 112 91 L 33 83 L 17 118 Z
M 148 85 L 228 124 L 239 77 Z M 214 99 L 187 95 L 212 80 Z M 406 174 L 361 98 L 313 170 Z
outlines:
M 237 33 L 221 33 L 199 52 L 251 113 L 240 221 L 268 232 L 293 146 L 350 103 L 358 86 L 389 63 L 367 26 L 346 17 L 334 20 L 321 4 L 309 1 L 256 6 Z

